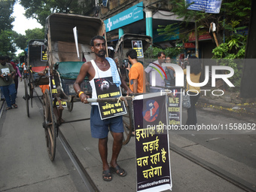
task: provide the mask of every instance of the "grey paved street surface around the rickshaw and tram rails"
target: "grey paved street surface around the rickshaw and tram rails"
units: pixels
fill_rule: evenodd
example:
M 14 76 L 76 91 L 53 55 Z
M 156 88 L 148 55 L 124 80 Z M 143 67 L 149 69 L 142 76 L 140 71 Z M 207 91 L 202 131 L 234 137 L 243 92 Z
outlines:
M 41 102 L 37 98 L 33 99 L 33 108 L 29 105 L 30 117 L 27 117 L 25 101 L 22 99 L 23 90 L 21 83 L 17 97 L 19 108 L 4 111 L 0 119 L 0 191 L 87 191 L 59 139 L 55 160 L 51 162 L 47 157 L 41 124 Z M 40 93 L 40 90 L 37 91 Z M 182 111 L 182 116 L 184 122 L 186 111 Z M 64 120 L 90 117 L 90 105 L 76 102 L 72 112 L 64 109 L 62 117 Z M 253 123 L 253 120 L 233 118 L 206 109 L 197 109 L 197 118 L 199 124 Z M 128 175 L 125 178 L 116 176 L 113 181 L 105 182 L 101 177 L 102 163 L 97 139 L 91 139 L 90 136 L 90 120 L 63 123 L 59 129 L 100 191 L 113 191 L 114 186 L 122 187 L 123 192 L 135 191 L 134 137 L 123 146 L 119 158 L 120 166 L 126 167 Z M 178 146 L 187 153 L 218 166 L 219 169 L 255 184 L 255 131 L 222 130 L 216 134 L 209 130 L 194 130 L 189 134 L 183 133 L 176 134 L 170 130 L 170 145 Z M 111 141 L 109 137 L 109 149 Z M 212 173 L 206 174 L 205 169 L 191 164 L 173 151 L 170 156 L 174 191 L 242 191 Z

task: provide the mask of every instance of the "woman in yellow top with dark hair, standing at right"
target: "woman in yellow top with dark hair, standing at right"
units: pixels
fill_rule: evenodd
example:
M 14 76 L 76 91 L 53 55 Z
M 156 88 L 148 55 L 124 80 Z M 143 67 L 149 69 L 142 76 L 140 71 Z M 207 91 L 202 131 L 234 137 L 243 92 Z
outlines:
M 190 66 L 190 80 L 193 83 L 200 83 L 200 75 L 202 66 L 200 59 L 197 56 L 190 56 L 188 58 L 188 66 Z M 187 69 L 183 70 L 184 75 L 187 75 Z M 197 111 L 195 105 L 200 97 L 200 87 L 194 87 L 186 82 L 186 93 L 190 96 L 190 108 L 187 108 L 187 122 L 186 125 L 197 124 Z

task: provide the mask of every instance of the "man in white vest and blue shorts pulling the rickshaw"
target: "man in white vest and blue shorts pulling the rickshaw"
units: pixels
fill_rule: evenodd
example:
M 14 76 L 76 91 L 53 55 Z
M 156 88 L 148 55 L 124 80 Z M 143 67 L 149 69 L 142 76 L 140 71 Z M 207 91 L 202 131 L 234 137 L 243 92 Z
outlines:
M 117 70 L 117 66 L 113 59 L 105 57 L 106 46 L 105 38 L 102 36 L 95 36 L 91 40 L 91 50 L 95 53 L 96 59 L 90 60 L 89 62 L 84 62 L 81 66 L 81 70 L 78 74 L 78 78 L 75 81 L 74 89 L 75 92 L 81 99 L 81 102 L 87 103 L 87 96 L 81 91 L 81 83 L 87 76 L 92 87 L 92 98 L 97 98 L 95 81 L 99 78 L 112 77 L 112 82 L 114 86 L 122 86 L 127 93 L 132 93 L 132 91 L 127 87 L 126 82 L 120 78 L 120 74 Z M 98 103 L 94 102 L 91 104 L 90 113 L 90 129 L 93 138 L 99 139 L 99 154 L 102 159 L 102 179 L 104 181 L 111 181 L 112 175 L 111 170 L 114 170 L 117 175 L 121 177 L 126 175 L 126 171 L 117 164 L 117 157 L 120 153 L 123 143 L 123 118 L 122 116 L 111 117 L 105 120 L 100 118 Z M 112 146 L 112 157 L 110 164 L 108 165 L 108 131 L 111 131 L 111 135 L 114 138 Z

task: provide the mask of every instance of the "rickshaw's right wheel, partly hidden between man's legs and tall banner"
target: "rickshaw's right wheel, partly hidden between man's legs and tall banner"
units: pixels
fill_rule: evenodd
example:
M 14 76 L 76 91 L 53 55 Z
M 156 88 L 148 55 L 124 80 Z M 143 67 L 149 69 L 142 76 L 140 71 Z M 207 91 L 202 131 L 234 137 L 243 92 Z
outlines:
M 133 132 L 133 111 L 132 111 L 132 101 L 127 100 L 128 106 L 126 106 L 127 114 L 123 115 L 123 145 L 130 142 L 132 132 Z

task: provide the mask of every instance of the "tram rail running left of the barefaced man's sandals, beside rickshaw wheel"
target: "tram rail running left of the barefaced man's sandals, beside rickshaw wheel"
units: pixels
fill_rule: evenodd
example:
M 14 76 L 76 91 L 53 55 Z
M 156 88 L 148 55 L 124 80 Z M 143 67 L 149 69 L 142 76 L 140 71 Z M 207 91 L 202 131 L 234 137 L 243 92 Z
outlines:
M 38 100 L 41 102 L 41 105 L 43 105 L 41 96 L 38 95 L 36 90 L 34 90 L 34 92 L 37 95 L 36 97 L 38 97 Z M 69 145 L 69 142 L 66 140 L 65 136 L 62 134 L 61 130 L 58 131 L 58 138 L 60 143 L 62 144 L 62 147 L 65 149 L 66 153 L 69 155 L 69 159 L 72 161 L 73 165 L 75 166 L 75 169 L 77 169 L 78 174 L 80 175 L 82 181 L 84 182 L 85 187 L 87 187 L 87 190 L 90 192 L 99 191 L 98 188 L 96 187 L 96 184 L 94 184 L 93 180 L 90 178 L 90 175 L 87 173 L 86 169 L 84 169 L 84 166 L 82 165 L 81 161 L 78 159 L 75 152 L 72 150 L 71 146 Z

